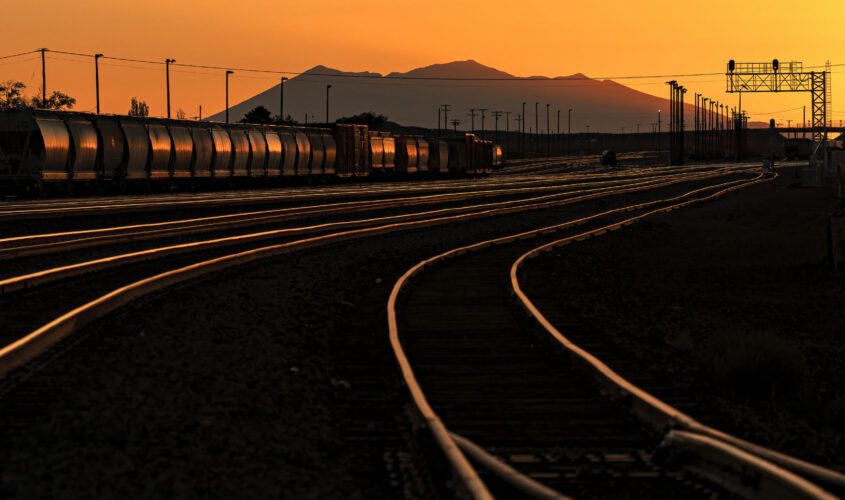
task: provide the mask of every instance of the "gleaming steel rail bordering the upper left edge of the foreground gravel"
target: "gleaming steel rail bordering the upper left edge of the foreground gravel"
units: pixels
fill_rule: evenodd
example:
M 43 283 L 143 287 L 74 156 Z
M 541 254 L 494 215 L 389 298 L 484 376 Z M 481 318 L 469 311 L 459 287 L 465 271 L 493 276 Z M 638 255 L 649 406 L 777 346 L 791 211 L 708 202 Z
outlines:
M 732 172 L 722 173 L 721 175 L 728 175 Z M 710 177 L 715 174 L 709 174 Z M 639 191 L 654 189 L 655 187 L 669 186 L 682 182 L 688 182 L 690 176 L 685 176 L 682 179 L 672 179 L 662 184 L 648 184 L 645 186 L 637 185 L 634 187 L 620 188 L 613 192 L 613 194 L 626 194 Z M 709 178 L 709 177 L 708 177 Z M 339 231 L 327 235 L 313 236 L 296 241 L 284 242 L 260 248 L 254 248 L 234 254 L 205 260 L 188 266 L 184 266 L 172 271 L 161 273 L 150 278 L 133 282 L 129 285 L 121 287 L 117 290 L 103 295 L 93 301 L 87 302 L 62 316 L 50 321 L 49 323 L 35 329 L 24 337 L 12 342 L 11 344 L 0 348 L 0 378 L 7 376 L 12 370 L 26 364 L 31 359 L 37 357 L 50 346 L 63 339 L 67 335 L 75 332 L 85 324 L 100 318 L 118 307 L 128 303 L 129 301 L 141 297 L 150 292 L 163 289 L 167 286 L 187 281 L 198 276 L 208 274 L 211 272 L 228 269 L 237 265 L 247 264 L 259 259 L 273 258 L 279 255 L 292 253 L 296 251 L 316 248 L 320 246 L 336 244 L 348 240 L 354 240 L 363 237 L 378 236 L 389 234 L 398 231 L 434 227 L 454 222 L 474 220 L 494 215 L 505 215 L 521 213 L 531 210 L 539 210 L 543 208 L 551 208 L 555 206 L 563 206 L 571 203 L 592 200 L 609 196 L 606 192 L 593 192 L 577 196 L 575 198 L 567 198 L 563 200 L 551 200 L 539 203 L 522 204 L 498 209 L 487 209 L 478 212 L 470 212 L 464 214 L 447 215 L 442 217 L 435 217 L 430 219 L 423 219 L 418 221 L 394 222 L 375 227 L 365 227 L 359 229 L 350 229 L 346 231 Z M 448 436 L 444 434 L 444 439 Z

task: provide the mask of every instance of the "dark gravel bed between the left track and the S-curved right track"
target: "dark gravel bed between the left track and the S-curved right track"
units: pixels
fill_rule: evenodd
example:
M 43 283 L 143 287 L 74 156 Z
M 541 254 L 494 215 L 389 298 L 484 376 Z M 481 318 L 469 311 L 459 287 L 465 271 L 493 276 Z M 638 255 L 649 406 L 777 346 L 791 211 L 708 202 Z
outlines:
M 611 200 L 589 211 L 632 197 Z M 347 243 L 132 304 L 2 399 L 0 497 L 429 497 L 387 342 L 393 282 L 586 211 Z

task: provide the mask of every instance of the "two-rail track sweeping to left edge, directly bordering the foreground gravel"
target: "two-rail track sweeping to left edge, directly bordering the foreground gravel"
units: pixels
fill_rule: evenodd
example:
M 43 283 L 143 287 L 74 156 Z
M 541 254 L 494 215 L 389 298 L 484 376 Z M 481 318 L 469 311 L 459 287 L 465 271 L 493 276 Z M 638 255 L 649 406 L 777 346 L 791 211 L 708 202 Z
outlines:
M 3 281 L 6 290 L 27 289 L 27 292 L 12 294 L 3 301 L 3 314 L 9 318 L 9 327 L 0 338 L 5 345 L 0 349 L 0 375 L 25 364 L 82 324 L 133 298 L 219 269 L 349 239 L 570 205 L 732 172 L 734 170 L 731 169 L 690 169 L 682 174 L 634 178 L 626 184 L 611 187 L 582 188 L 527 199 L 239 234 L 114 255 L 7 278 Z M 262 246 L 274 239 L 274 244 Z M 157 273 L 168 268 L 173 270 Z M 94 274 L 95 271 L 97 274 Z M 50 282 L 56 282 L 58 286 L 40 286 Z M 57 314 L 56 304 L 62 304 L 70 312 L 43 324 L 43 318 Z

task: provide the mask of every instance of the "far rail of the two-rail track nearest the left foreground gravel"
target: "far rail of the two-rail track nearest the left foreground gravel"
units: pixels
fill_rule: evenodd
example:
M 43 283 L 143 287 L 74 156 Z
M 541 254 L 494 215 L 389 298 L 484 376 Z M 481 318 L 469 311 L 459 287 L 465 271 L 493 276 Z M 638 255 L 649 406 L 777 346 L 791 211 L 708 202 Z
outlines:
M 0 280 L 0 295 L 20 291 L 35 286 L 44 285 L 46 283 L 56 281 L 59 279 L 71 278 L 86 273 L 95 271 L 102 271 L 116 266 L 148 261 L 156 258 L 167 257 L 171 255 L 178 255 L 189 252 L 198 252 L 210 250 L 214 248 L 221 248 L 225 246 L 261 241 L 272 238 L 280 238 L 284 236 L 296 236 L 307 233 L 317 233 L 332 229 L 353 228 L 372 225 L 381 222 L 396 222 L 402 220 L 413 220 L 420 217 L 444 216 L 448 214 L 492 214 L 496 211 L 508 210 L 510 207 L 519 207 L 520 205 L 528 204 L 527 206 L 534 206 L 537 208 L 561 206 L 566 204 L 578 203 L 581 201 L 591 200 L 598 197 L 612 196 L 614 194 L 624 194 L 634 192 L 637 190 L 654 189 L 657 187 L 665 187 L 679 182 L 690 182 L 695 180 L 704 180 L 713 177 L 725 175 L 724 172 L 706 172 L 672 176 L 667 181 L 665 178 L 649 178 L 645 182 L 630 183 L 619 187 L 618 190 L 608 190 L 605 187 L 583 189 L 577 191 L 567 191 L 564 193 L 549 194 L 543 196 L 535 196 L 531 198 L 510 200 L 504 202 L 482 203 L 476 205 L 468 205 L 461 207 L 443 208 L 437 210 L 429 210 L 424 212 L 414 212 L 411 214 L 392 215 L 383 217 L 373 217 L 367 219 L 359 219 L 352 221 L 340 221 L 332 223 L 317 224 L 313 226 L 276 229 L 270 231 L 262 231 L 258 233 L 249 233 L 236 236 L 229 236 L 225 238 L 216 238 L 212 240 L 203 240 L 191 243 L 182 243 L 177 245 L 169 245 L 164 247 L 156 247 L 147 250 L 140 250 L 136 252 L 129 252 L 110 257 L 104 257 L 76 264 L 69 264 L 55 268 L 45 269 L 33 273 L 19 275 L 11 278 Z M 533 205 L 531 205 L 533 204 Z M 473 210 L 481 210 L 480 212 L 472 212 Z

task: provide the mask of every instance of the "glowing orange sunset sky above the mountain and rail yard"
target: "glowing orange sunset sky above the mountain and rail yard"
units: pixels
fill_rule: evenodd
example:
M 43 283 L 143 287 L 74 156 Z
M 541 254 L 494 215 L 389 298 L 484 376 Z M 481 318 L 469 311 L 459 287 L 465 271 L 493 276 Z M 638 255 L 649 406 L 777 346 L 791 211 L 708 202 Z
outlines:
M 134 4 L 134 5 L 130 5 Z M 576 6 L 577 5 L 577 6 Z M 724 71 L 738 61 L 826 60 L 845 63 L 845 2 L 820 0 L 812 11 L 785 0 L 716 0 L 677 7 L 670 1 L 42 0 L 5 6 L 2 55 L 47 47 L 71 52 L 214 66 L 303 71 L 323 64 L 346 71 L 407 71 L 475 59 L 518 76 L 594 77 Z M 47 13 L 46 15 L 44 13 Z M 705 20 L 706 19 L 706 20 Z M 48 90 L 61 89 L 93 110 L 93 64 L 53 55 Z M 0 80 L 19 79 L 35 91 L 40 60 L 0 60 Z M 132 96 L 153 115 L 165 113 L 163 67 L 102 61 L 103 112 L 125 113 Z M 189 116 L 224 106 L 222 72 L 174 68 L 172 107 Z M 664 96 L 665 79 L 619 80 Z M 230 100 L 246 99 L 278 81 L 237 73 Z M 679 78 L 693 92 L 723 102 L 724 77 Z M 834 120 L 845 119 L 845 66 L 834 68 Z M 688 96 L 690 95 L 688 94 Z M 746 94 L 757 120 L 800 120 L 809 95 Z M 576 104 L 577 105 L 577 104 Z M 798 109 L 796 109 L 798 108 Z M 840 112 L 841 111 L 841 112 Z

